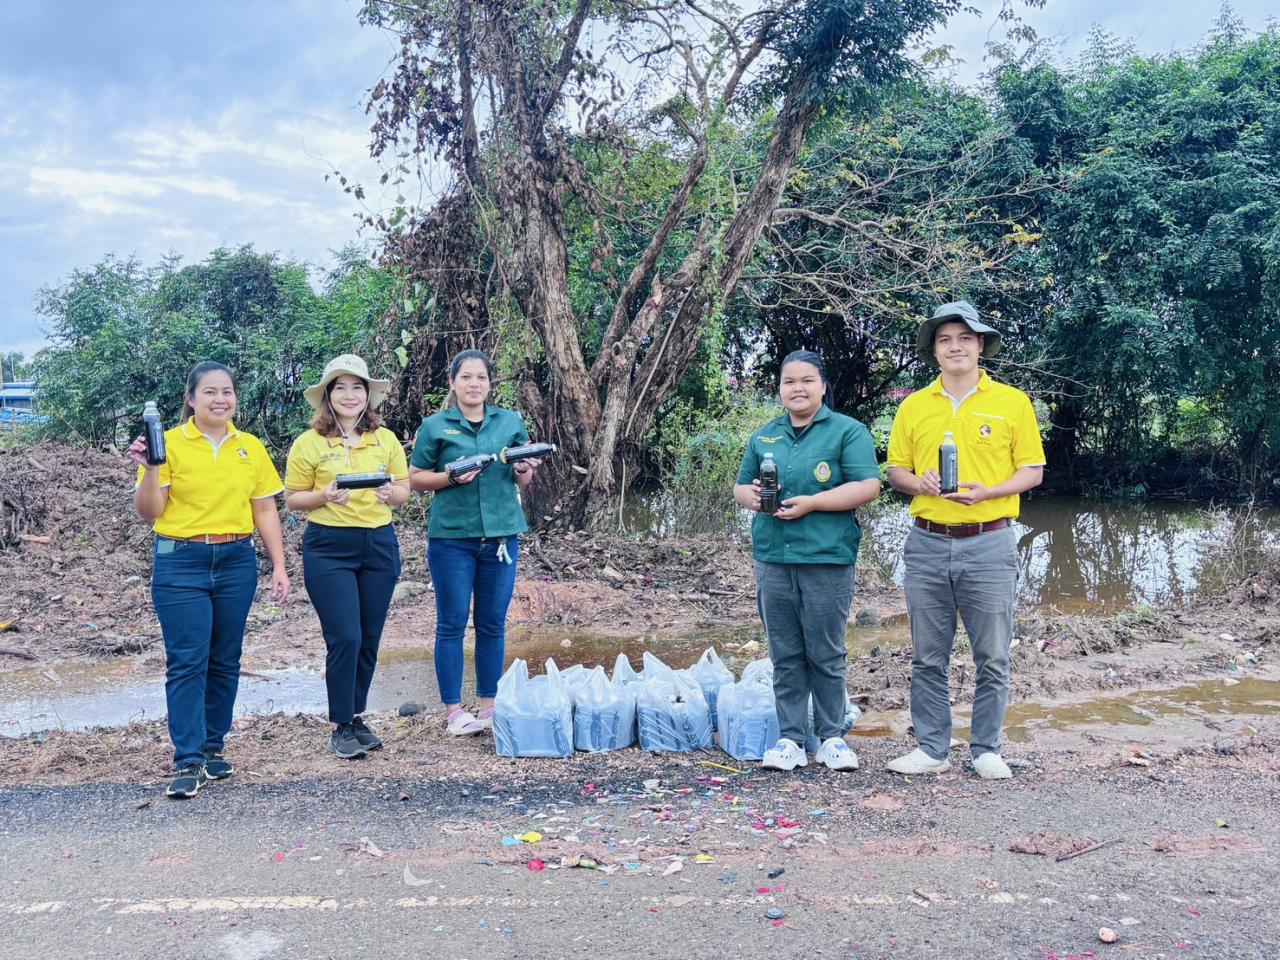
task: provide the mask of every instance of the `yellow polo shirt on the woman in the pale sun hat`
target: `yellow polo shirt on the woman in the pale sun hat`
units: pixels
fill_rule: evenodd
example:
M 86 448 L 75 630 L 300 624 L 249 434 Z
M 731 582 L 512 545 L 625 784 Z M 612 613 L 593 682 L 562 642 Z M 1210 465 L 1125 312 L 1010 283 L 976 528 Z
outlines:
M 360 435 L 347 448 L 340 436 L 307 430 L 289 448 L 284 485 L 289 490 L 323 490 L 338 474 L 387 474 L 392 480 L 408 477 L 404 447 L 396 434 L 380 426 Z M 325 503 L 307 513 L 321 526 L 376 527 L 392 522 L 392 508 L 378 499 L 375 489 L 351 490 L 346 503 Z

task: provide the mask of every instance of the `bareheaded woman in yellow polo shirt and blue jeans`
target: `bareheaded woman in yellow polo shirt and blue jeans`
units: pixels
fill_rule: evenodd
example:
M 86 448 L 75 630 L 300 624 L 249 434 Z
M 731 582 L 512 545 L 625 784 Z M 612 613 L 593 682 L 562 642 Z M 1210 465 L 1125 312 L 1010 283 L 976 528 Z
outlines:
M 138 438 L 133 507 L 155 524 L 151 600 L 165 649 L 165 701 L 178 773 L 165 791 L 195 796 L 232 773 L 223 740 L 239 686 L 244 621 L 257 591 L 253 529 L 271 557 L 271 593 L 289 595 L 275 494 L 280 475 L 261 442 L 232 422 L 236 383 L 221 364 L 187 378 L 183 422 L 165 431 L 166 460 L 147 463 Z

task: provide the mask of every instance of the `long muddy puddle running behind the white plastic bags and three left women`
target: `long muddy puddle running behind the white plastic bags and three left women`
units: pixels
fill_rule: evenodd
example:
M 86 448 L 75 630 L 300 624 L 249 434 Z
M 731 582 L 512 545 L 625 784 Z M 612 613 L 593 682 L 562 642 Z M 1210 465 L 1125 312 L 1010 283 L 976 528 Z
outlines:
M 886 622 L 874 628 L 850 627 L 850 657 L 878 645 L 904 645 L 906 630 Z M 568 645 L 564 645 L 564 641 Z M 543 672 L 548 658 L 561 667 L 582 663 L 613 671 L 620 653 L 639 669 L 648 650 L 667 664 L 682 668 L 713 648 L 735 675 L 765 655 L 759 627 L 696 631 L 684 636 L 643 634 L 634 637 L 600 636 L 571 627 L 516 626 L 507 634 L 507 663 L 529 662 Z M 466 658 L 471 660 L 470 646 Z M 475 696 L 475 671 L 463 671 L 462 696 Z M 396 710 L 407 700 L 433 709 L 439 704 L 435 660 L 429 650 L 387 650 L 369 691 L 369 709 Z M 288 668 L 244 672 L 236 698 L 236 716 L 326 712 L 324 676 L 314 669 Z M 0 736 L 23 736 L 47 730 L 122 727 L 165 716 L 164 676 L 154 664 L 137 659 L 95 664 L 59 664 L 0 673 Z

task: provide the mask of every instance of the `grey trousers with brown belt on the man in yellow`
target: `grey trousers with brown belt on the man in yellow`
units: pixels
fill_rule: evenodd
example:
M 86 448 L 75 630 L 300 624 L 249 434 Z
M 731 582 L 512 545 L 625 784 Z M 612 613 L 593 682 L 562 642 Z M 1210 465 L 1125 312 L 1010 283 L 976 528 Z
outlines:
M 970 751 L 1000 753 L 1009 705 L 1009 641 L 1014 635 L 1018 535 L 1005 527 L 950 538 L 913 526 L 904 548 L 906 612 L 911 618 L 911 723 L 936 760 L 951 749 L 951 646 L 964 620 L 977 668 Z

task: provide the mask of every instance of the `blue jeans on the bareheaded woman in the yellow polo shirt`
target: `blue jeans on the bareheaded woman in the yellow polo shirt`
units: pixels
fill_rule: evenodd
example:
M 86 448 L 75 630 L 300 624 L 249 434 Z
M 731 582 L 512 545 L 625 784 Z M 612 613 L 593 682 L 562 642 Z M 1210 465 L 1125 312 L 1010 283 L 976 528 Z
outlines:
M 221 750 L 232 728 L 257 552 L 252 538 L 201 544 L 156 536 L 152 556 L 173 762 L 178 768 L 204 764 L 204 751 Z

